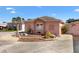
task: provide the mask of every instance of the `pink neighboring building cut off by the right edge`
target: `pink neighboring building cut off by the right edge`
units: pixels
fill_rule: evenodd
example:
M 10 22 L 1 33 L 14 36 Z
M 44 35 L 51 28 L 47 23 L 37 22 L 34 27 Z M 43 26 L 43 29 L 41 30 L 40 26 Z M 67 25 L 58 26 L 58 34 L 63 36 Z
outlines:
M 68 32 L 69 34 L 79 36 L 79 22 L 72 22 L 68 24 Z

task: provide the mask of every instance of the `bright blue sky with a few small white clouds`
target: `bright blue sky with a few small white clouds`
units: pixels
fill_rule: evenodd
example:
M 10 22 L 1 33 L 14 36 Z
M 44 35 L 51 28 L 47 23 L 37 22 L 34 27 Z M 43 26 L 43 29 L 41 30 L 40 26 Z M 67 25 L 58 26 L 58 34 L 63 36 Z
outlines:
M 12 17 L 37 18 L 51 16 L 63 21 L 79 18 L 79 6 L 0 6 L 0 23 L 10 22 Z

